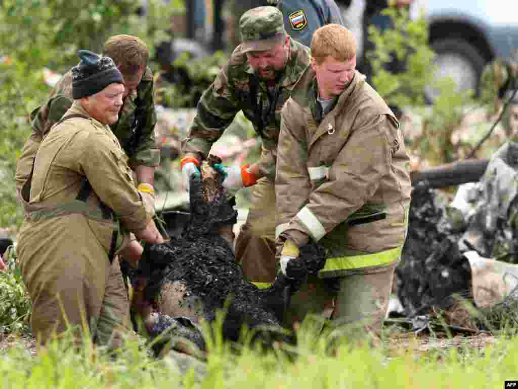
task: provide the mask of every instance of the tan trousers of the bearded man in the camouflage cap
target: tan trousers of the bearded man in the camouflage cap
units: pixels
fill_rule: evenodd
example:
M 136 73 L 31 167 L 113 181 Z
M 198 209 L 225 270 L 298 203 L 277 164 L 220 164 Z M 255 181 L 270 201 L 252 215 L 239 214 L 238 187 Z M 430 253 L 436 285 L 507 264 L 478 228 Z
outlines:
M 264 177 L 254 186 L 250 211 L 235 247 L 236 260 L 243 268 L 245 279 L 258 286 L 275 281 L 275 227 L 275 187 Z

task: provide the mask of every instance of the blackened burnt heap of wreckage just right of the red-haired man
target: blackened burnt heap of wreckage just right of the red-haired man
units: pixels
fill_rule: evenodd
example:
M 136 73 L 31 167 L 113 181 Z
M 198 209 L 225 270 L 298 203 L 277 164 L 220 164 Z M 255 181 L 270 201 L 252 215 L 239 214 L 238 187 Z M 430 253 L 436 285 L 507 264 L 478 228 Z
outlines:
M 447 309 L 454 294 L 472 299 L 471 268 L 457 244 L 461 232 L 450 225 L 435 189 L 420 184 L 413 190 L 407 240 L 396 269 L 406 316 Z

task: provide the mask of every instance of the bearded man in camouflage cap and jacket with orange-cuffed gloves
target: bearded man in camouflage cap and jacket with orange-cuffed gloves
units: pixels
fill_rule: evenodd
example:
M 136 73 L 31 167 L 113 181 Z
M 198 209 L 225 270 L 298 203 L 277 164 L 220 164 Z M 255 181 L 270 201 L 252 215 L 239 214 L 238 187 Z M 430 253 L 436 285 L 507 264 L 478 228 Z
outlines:
M 232 53 L 198 104 L 197 115 L 182 141 L 182 171 L 188 179 L 211 145 L 242 110 L 261 136 L 261 158 L 253 165 L 222 168 L 224 186 L 235 192 L 254 186 L 250 212 L 236 242 L 236 258 L 252 282 L 275 280 L 275 166 L 280 113 L 295 82 L 309 64 L 308 48 L 290 38 L 282 13 L 257 7 L 240 19 L 242 43 Z

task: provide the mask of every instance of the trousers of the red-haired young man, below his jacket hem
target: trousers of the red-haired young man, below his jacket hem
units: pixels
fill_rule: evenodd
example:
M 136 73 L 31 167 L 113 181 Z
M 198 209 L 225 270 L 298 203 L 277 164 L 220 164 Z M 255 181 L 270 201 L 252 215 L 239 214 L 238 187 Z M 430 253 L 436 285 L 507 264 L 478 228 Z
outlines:
M 389 307 L 397 262 L 389 266 L 355 269 L 351 274 L 308 282 L 292 296 L 285 325 L 293 327 L 308 315 L 331 319 L 333 328 L 352 342 L 379 343 Z M 315 325 L 320 329 L 323 322 Z

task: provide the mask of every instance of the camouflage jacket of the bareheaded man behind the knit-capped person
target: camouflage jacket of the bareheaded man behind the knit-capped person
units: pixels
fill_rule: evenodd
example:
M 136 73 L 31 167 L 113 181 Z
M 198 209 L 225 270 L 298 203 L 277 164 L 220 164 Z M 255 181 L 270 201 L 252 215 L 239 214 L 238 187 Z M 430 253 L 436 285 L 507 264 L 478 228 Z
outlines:
M 41 138 L 44 137 L 53 124 L 59 121 L 70 108 L 72 102 L 72 78 L 71 73 L 67 72 L 56 85 L 49 102 L 36 108 L 31 114 L 33 132 Z M 160 150 L 155 146 L 155 123 L 153 73 L 148 67 L 136 93 L 124 99 L 119 120 L 110 126 L 130 158 L 131 166 L 160 164 Z

